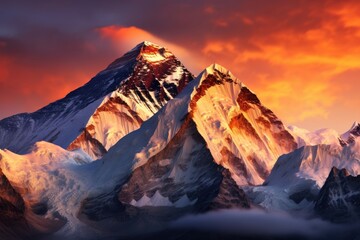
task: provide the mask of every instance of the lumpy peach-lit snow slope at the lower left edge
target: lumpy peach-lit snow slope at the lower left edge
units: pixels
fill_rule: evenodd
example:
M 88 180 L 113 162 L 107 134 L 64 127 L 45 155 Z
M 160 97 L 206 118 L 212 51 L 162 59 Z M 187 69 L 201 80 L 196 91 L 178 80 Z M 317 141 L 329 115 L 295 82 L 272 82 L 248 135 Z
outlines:
M 38 142 L 25 155 L 0 150 L 0 159 L 0 168 L 21 194 L 29 212 L 31 209 L 35 217 L 66 223 L 64 231 L 70 226 L 81 231 L 84 224 L 77 219 L 78 205 L 88 189 L 86 177 L 91 172 L 82 176 L 79 167 L 92 162 L 87 154 Z M 34 217 L 30 220 L 35 221 Z

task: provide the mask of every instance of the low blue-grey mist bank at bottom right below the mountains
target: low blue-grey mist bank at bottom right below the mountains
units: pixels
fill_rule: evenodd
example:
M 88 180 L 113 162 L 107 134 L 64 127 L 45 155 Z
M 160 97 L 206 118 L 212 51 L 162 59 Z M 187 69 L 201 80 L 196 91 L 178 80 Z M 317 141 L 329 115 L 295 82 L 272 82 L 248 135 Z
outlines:
M 171 223 L 171 229 L 198 230 L 256 238 L 339 239 L 354 237 L 354 226 L 331 224 L 319 219 L 294 218 L 285 213 L 260 210 L 221 210 L 189 215 Z

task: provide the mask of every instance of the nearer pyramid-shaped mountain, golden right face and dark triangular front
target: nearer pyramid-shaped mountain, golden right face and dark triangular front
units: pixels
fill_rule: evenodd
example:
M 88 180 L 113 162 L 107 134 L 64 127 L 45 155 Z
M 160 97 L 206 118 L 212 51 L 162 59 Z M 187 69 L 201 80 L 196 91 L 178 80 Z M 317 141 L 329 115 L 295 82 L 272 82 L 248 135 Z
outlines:
M 276 158 L 295 148 L 256 95 L 213 64 L 96 163 L 93 176 L 108 191 L 97 189 L 81 211 L 105 219 L 114 198 L 123 212 L 134 206 L 243 208 L 249 204 L 238 186 L 262 183 Z

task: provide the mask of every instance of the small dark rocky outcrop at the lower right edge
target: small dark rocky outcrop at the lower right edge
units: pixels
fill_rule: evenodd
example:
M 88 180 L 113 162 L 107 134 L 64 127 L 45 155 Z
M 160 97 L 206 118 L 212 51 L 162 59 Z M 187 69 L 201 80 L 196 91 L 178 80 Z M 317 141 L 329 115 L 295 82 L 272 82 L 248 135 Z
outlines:
M 315 210 L 332 221 L 354 221 L 360 217 L 360 176 L 333 167 L 321 188 Z

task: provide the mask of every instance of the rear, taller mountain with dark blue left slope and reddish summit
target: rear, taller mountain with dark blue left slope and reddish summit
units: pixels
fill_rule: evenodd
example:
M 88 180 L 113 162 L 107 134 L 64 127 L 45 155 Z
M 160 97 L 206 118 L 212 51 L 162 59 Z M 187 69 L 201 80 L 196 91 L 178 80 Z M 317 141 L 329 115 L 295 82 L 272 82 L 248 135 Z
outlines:
M 47 141 L 100 158 L 192 79 L 169 50 L 145 41 L 65 98 L 1 120 L 0 149 L 26 153 Z

